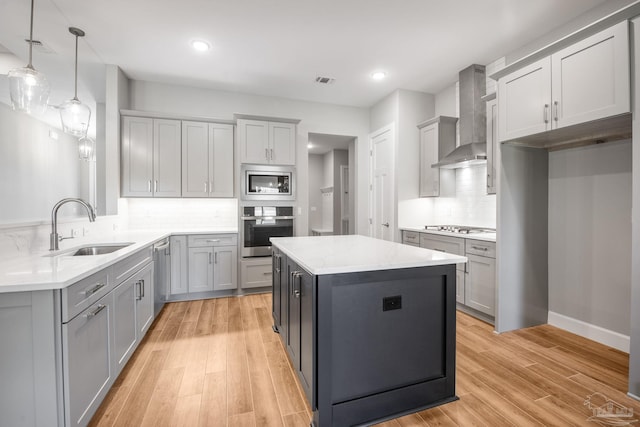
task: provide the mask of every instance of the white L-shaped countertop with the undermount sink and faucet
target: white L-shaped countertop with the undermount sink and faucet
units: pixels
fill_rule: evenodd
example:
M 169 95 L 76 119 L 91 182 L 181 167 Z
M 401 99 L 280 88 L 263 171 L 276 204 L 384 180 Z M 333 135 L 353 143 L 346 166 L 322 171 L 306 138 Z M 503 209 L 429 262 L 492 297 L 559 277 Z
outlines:
M 65 288 L 171 235 L 237 233 L 237 229 L 126 231 L 106 236 L 64 240 L 55 252 L 40 252 L 0 261 L 0 293 Z M 104 255 L 69 256 L 80 246 L 133 243 Z

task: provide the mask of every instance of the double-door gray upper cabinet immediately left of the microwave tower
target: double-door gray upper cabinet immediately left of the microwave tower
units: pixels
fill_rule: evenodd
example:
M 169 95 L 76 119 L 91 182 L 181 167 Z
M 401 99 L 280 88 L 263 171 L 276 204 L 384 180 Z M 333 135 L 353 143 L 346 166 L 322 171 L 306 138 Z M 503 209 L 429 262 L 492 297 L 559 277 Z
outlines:
M 233 125 L 182 122 L 182 196 L 233 197 Z

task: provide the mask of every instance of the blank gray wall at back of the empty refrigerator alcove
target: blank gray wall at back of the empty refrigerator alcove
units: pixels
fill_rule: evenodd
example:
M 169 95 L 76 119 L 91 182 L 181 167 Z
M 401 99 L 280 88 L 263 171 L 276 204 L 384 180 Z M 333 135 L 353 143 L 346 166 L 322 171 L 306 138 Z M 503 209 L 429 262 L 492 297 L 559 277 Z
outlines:
M 549 153 L 549 310 L 629 335 L 631 141 Z

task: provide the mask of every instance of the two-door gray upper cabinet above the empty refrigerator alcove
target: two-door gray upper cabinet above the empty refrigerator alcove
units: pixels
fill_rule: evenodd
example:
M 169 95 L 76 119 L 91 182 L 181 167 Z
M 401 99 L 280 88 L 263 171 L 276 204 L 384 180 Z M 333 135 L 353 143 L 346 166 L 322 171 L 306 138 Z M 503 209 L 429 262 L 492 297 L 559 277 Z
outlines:
M 498 80 L 499 140 L 630 112 L 627 21 Z

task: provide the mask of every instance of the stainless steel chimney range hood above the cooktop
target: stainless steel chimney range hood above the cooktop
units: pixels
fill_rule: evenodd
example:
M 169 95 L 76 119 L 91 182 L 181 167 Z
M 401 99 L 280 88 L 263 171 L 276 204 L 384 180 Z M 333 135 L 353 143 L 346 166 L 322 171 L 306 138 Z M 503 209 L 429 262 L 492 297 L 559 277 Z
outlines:
M 460 71 L 460 145 L 431 165 L 434 168 L 461 168 L 487 161 L 487 106 L 484 65 L 471 65 Z

